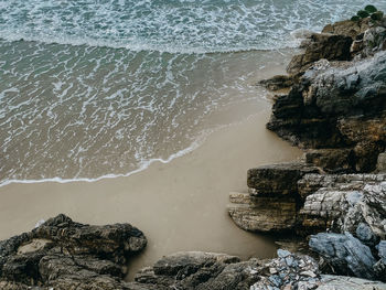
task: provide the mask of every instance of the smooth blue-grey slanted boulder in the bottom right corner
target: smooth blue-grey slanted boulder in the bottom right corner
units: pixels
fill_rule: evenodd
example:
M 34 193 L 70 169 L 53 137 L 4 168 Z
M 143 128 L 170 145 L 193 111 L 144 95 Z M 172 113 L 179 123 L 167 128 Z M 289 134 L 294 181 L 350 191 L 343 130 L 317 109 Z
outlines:
M 310 248 L 321 255 L 337 273 L 375 279 L 376 264 L 371 249 L 351 234 L 321 233 L 311 236 Z

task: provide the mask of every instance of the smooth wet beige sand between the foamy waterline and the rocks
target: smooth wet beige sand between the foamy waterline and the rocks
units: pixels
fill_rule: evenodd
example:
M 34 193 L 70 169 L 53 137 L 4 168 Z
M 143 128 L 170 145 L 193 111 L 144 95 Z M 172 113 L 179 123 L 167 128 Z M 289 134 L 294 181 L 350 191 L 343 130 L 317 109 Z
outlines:
M 153 163 L 128 178 L 0 187 L 0 239 L 64 213 L 81 223 L 130 223 L 140 228 L 149 245 L 132 259 L 130 277 L 179 250 L 272 257 L 274 240 L 239 229 L 226 211 L 228 193 L 246 191 L 249 168 L 301 155 L 299 149 L 265 129 L 270 114 L 266 106 L 259 114 L 212 133 L 186 155 L 167 164 Z

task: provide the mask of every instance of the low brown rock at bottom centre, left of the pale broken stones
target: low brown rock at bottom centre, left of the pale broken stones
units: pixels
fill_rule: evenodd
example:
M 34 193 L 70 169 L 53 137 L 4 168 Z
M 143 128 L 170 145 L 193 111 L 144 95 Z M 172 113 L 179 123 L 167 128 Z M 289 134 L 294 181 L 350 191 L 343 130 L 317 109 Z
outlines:
M 248 289 L 259 279 L 260 261 L 240 261 L 224 254 L 187 251 L 163 257 L 136 275 L 136 281 L 156 289 Z

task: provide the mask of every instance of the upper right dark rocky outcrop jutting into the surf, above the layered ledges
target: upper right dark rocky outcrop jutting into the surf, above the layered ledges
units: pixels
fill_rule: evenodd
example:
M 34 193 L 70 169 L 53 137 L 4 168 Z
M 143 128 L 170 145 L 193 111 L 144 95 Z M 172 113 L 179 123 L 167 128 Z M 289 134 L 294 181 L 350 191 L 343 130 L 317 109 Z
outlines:
M 308 161 L 330 173 L 371 172 L 386 147 L 386 18 L 337 22 L 310 37 L 289 76 L 261 83 L 293 82 L 277 97 L 267 128 L 296 146 L 322 149 Z M 353 42 L 349 52 L 343 40 Z

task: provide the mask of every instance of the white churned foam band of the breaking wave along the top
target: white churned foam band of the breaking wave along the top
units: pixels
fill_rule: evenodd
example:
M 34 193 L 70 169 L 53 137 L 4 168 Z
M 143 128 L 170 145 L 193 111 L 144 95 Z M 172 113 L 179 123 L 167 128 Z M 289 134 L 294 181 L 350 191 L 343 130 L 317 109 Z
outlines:
M 386 9 L 382 0 L 373 1 Z M 271 50 L 363 8 L 352 0 L 2 0 L 0 37 L 132 51 Z

